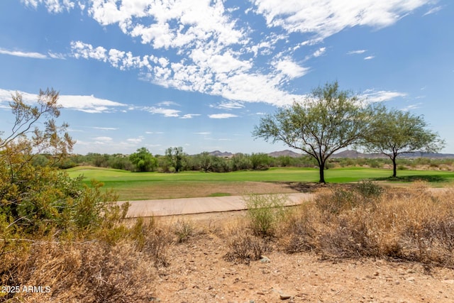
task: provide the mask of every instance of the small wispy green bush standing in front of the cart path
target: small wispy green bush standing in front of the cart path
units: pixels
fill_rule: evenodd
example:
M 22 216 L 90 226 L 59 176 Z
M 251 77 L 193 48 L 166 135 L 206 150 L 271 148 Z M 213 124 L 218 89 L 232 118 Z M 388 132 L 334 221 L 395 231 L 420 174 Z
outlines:
M 285 215 L 286 197 L 280 194 L 250 194 L 245 197 L 250 228 L 255 236 L 273 236 Z

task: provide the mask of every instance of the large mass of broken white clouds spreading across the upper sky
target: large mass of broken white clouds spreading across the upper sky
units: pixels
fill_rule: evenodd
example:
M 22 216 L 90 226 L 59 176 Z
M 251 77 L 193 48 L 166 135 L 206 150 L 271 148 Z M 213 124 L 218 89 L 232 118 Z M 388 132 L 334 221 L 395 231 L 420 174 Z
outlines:
M 254 0 L 253 11 L 264 16 L 270 28 L 270 33 L 260 33 L 257 39 L 256 30 L 231 13 L 242 12 L 221 0 L 94 0 L 87 1 L 89 16 L 102 26 L 117 24 L 125 35 L 149 45 L 154 55 L 82 41 L 72 42 L 71 48 L 76 58 L 99 60 L 120 70 L 138 69 L 140 79 L 162 87 L 280 106 L 301 97 L 288 92 L 287 84 L 310 70 L 294 60 L 295 50 L 304 51 L 306 45 L 345 28 L 390 26 L 430 1 Z M 291 33 L 304 37 L 290 42 Z M 270 59 L 277 45 L 281 53 Z M 324 53 L 322 47 L 306 57 Z M 259 66 L 258 62 L 266 63 Z

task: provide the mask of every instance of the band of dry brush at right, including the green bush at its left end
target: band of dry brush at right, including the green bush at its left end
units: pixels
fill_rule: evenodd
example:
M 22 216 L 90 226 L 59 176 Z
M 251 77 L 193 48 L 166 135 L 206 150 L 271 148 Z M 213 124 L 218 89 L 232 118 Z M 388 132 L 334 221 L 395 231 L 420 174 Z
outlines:
M 454 266 L 454 189 L 383 189 L 372 182 L 321 189 L 283 209 L 282 197 L 248 199 L 247 227 L 229 242 L 228 260 L 257 260 L 273 244 L 322 258 L 374 257 Z

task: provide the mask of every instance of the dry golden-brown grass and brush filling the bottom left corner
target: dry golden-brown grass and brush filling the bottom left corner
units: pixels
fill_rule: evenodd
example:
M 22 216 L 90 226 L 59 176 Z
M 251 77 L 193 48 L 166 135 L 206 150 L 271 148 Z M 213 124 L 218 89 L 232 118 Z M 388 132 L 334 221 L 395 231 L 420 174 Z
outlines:
M 42 286 L 44 292 L 4 293 L 0 302 L 150 302 L 174 234 L 170 226 L 138 219 L 100 230 L 89 241 L 2 241 L 1 284 Z

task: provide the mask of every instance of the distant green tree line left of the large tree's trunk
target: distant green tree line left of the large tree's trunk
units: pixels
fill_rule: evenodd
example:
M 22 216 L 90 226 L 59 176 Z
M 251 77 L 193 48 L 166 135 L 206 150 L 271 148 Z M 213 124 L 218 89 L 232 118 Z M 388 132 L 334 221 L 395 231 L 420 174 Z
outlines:
M 37 155 L 34 165 L 44 166 L 50 163 L 51 155 Z M 75 166 L 90 165 L 109 167 L 132 172 L 181 172 L 187 170 L 202 172 L 233 172 L 237 170 L 265 170 L 268 167 L 316 167 L 316 162 L 308 156 L 292 158 L 290 156 L 272 157 L 266 153 L 237 153 L 231 157 L 219 157 L 209 152 L 188 155 L 181 147 L 165 150 L 164 155 L 153 155 L 143 147 L 131 155 L 121 153 L 70 155 L 57 166 L 66 169 Z

